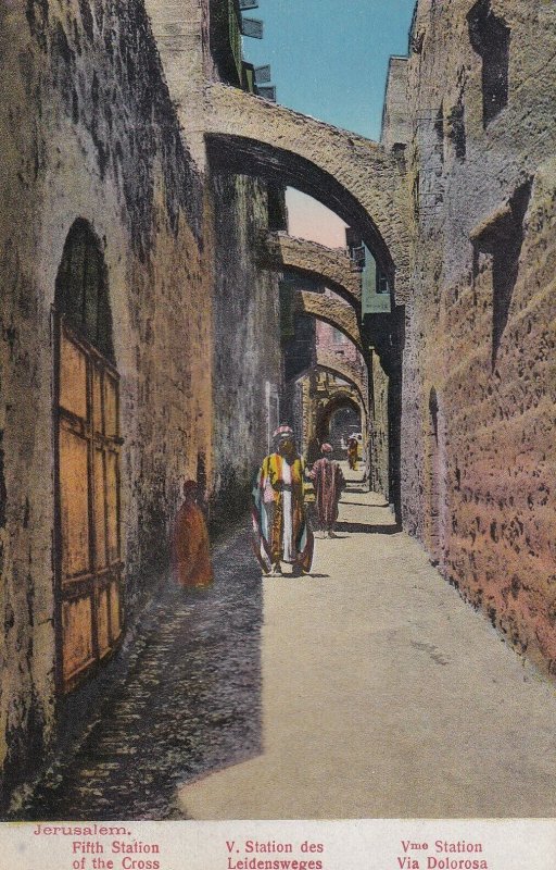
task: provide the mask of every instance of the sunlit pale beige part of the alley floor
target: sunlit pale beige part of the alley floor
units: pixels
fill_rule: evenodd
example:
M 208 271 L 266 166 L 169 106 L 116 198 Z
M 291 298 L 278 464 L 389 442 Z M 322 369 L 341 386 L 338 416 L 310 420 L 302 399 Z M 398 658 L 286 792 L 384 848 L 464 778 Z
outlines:
M 184 813 L 555 816 L 554 687 L 379 496 L 344 494 L 339 519 L 313 576 L 263 581 L 263 751 L 182 787 Z

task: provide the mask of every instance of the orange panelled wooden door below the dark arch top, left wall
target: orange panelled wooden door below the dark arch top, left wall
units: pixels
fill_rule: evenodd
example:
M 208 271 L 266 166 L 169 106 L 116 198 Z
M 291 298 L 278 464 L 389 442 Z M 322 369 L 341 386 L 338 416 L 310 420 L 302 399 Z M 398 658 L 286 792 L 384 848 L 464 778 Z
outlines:
M 60 671 L 68 692 L 122 636 L 122 439 L 117 371 L 63 318 L 58 328 Z

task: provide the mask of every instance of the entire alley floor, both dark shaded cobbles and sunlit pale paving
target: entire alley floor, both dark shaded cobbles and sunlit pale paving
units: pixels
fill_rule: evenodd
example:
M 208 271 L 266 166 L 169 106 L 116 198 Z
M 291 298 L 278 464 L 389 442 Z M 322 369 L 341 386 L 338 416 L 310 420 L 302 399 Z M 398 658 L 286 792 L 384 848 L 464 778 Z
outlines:
M 556 815 L 553 685 L 351 476 L 309 576 L 261 583 L 242 526 L 164 587 L 25 817 Z

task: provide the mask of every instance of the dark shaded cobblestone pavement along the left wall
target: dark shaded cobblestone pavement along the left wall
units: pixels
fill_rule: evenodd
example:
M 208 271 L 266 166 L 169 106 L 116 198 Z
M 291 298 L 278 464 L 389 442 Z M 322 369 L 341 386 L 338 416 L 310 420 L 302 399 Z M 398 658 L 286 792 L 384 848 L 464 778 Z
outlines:
M 262 591 L 245 529 L 214 568 L 210 591 L 164 586 L 77 755 L 18 818 L 176 818 L 178 783 L 258 751 Z

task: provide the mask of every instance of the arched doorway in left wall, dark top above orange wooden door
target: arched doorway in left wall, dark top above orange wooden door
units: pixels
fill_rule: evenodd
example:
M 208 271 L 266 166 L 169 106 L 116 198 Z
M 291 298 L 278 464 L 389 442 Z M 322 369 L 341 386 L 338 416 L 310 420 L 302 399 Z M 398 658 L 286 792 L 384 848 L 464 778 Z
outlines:
M 58 684 L 72 691 L 122 635 L 119 387 L 108 274 L 90 225 L 72 226 L 54 301 Z

